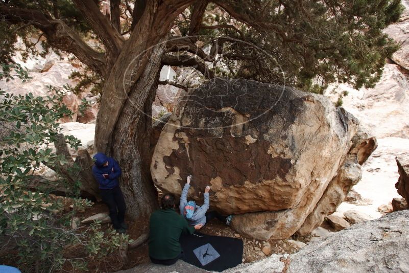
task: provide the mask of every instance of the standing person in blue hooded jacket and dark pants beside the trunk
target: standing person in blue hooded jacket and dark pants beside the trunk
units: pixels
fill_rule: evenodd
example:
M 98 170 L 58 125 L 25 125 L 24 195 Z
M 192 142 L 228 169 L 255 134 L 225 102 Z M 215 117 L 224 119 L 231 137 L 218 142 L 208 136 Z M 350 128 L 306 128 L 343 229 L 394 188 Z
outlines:
M 125 200 L 119 187 L 118 178 L 121 176 L 121 168 L 112 158 L 104 153 L 97 153 L 93 156 L 94 166 L 92 173 L 99 183 L 101 197 L 109 208 L 114 229 L 119 233 L 125 233 L 127 225 L 125 224 Z

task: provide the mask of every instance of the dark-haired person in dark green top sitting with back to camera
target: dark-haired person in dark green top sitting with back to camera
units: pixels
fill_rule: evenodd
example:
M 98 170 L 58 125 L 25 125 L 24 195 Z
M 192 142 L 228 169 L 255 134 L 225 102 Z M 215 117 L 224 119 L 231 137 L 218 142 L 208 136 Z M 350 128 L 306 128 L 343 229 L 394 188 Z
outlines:
M 173 194 L 165 194 L 160 200 L 160 207 L 150 218 L 149 258 L 153 263 L 171 265 L 183 257 L 180 235 L 192 234 L 203 224 L 189 225 L 175 211 L 176 198 Z

